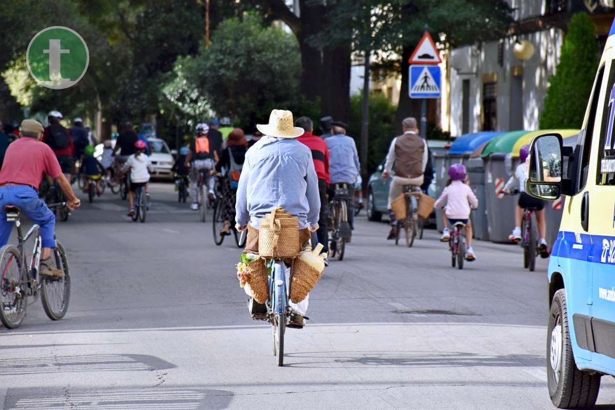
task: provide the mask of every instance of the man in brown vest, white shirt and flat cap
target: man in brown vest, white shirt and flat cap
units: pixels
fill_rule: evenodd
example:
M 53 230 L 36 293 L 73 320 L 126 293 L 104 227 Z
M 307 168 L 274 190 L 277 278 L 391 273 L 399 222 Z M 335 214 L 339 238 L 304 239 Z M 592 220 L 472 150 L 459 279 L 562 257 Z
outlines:
M 387 239 L 397 237 L 397 219 L 391 210 L 391 202 L 403 192 L 404 185 L 412 185 L 421 191 L 427 166 L 427 141 L 418 135 L 416 119 L 408 117 L 402 122 L 403 134 L 393 138 L 384 164 L 383 178 L 389 178 L 395 165 L 395 175 L 389 190 L 389 219 L 391 232 Z

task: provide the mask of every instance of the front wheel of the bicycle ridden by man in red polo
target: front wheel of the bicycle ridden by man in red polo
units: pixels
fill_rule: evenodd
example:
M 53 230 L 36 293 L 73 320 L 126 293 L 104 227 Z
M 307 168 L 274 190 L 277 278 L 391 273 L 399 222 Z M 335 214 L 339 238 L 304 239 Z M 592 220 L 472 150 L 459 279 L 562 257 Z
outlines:
M 44 277 L 41 282 L 42 309 L 51 320 L 60 320 L 66 315 L 71 298 L 71 275 L 68 269 L 66 251 L 60 241 L 56 241 L 54 251 L 55 266 L 64 272 L 63 278 Z

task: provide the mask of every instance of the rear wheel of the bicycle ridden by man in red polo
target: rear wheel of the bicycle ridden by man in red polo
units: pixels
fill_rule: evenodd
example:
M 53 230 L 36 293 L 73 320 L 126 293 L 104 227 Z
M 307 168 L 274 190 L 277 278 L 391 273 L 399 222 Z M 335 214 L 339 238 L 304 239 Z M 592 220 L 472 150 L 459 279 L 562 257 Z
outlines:
M 0 249 L 0 321 L 9 329 L 22 324 L 28 306 L 21 258 L 13 245 Z

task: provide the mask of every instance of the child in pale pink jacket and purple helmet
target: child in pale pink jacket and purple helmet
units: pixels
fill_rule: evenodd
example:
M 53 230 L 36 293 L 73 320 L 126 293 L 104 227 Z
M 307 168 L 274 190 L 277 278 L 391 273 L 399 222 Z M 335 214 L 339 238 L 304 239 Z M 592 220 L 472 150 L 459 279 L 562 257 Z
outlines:
M 462 164 L 453 164 L 448 168 L 450 184 L 444 188 L 442 195 L 435 202 L 434 208 L 444 208 L 444 213 L 450 226 L 461 222 L 466 225 L 466 260 L 474 261 L 476 254 L 472 249 L 472 225 L 468 223 L 470 211 L 478 207 L 478 199 L 472 188 L 466 184 L 466 167 Z

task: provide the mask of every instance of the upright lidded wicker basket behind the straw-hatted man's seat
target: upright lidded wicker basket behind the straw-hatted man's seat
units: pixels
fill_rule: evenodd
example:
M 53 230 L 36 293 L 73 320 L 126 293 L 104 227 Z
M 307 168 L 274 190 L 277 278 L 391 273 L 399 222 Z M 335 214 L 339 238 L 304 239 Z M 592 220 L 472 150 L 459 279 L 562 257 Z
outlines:
M 300 251 L 299 219 L 277 207 L 261 218 L 258 254 L 261 258 L 295 258 Z

